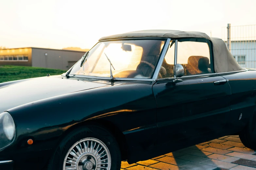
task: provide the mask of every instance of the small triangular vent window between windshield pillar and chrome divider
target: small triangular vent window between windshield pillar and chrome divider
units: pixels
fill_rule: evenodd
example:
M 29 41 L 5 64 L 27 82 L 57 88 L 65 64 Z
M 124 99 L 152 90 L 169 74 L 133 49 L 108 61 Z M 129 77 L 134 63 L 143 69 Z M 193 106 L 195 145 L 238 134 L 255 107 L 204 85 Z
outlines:
M 172 78 L 174 66 L 175 40 L 170 41 L 158 78 Z

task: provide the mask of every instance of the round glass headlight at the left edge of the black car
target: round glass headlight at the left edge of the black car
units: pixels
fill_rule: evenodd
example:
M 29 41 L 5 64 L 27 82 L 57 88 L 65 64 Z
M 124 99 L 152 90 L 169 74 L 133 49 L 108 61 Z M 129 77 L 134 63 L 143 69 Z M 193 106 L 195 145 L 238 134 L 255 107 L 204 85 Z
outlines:
M 15 135 L 15 124 L 8 112 L 0 114 L 0 149 L 9 146 Z

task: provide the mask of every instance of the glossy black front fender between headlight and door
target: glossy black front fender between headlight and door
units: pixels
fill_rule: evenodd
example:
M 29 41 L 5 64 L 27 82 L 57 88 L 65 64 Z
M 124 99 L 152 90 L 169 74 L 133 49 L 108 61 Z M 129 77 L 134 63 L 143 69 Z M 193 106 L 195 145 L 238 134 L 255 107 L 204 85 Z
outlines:
M 7 148 L 16 152 L 51 150 L 69 128 L 87 120 L 107 120 L 125 134 L 129 147 L 150 141 L 157 132 L 156 102 L 152 83 L 127 83 L 51 97 L 9 109 L 16 124 L 14 143 Z M 144 131 L 145 130 L 145 131 Z M 151 133 L 151 134 L 150 134 Z M 33 139 L 33 145 L 27 140 Z M 145 144 L 143 146 L 146 149 Z M 0 157 L 2 152 L 0 152 Z M 13 154 L 9 154 L 12 157 Z M 14 158 L 15 159 L 15 158 Z

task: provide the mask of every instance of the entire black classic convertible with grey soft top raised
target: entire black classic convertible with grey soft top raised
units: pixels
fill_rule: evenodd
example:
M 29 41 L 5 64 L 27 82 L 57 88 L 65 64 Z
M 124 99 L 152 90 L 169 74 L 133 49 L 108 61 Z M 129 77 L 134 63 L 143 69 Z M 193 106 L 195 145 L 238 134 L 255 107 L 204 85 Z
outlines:
M 200 32 L 103 37 L 66 73 L 0 83 L 0 169 L 120 170 L 238 134 L 256 149 L 256 71 Z

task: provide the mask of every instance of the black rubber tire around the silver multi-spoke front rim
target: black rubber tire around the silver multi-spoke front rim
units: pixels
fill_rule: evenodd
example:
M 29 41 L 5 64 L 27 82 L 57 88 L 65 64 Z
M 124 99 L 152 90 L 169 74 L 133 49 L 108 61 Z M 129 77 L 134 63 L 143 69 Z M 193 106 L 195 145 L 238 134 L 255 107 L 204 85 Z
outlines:
M 109 131 L 106 130 L 106 128 L 95 125 L 80 127 L 79 129 L 69 133 L 61 141 L 50 159 L 47 170 L 62 170 L 64 159 L 69 149 L 79 140 L 88 137 L 98 139 L 106 145 L 111 156 L 111 170 L 120 170 L 121 153 L 116 139 Z

